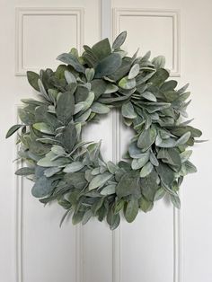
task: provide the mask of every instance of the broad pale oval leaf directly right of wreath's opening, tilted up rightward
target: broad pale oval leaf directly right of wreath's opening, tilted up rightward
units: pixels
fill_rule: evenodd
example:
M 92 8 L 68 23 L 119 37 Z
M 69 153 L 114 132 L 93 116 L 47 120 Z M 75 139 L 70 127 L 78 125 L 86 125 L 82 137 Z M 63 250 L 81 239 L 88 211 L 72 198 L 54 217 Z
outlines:
M 144 130 L 137 140 L 137 146 L 144 151 L 147 150 L 154 142 L 156 137 L 156 129 L 154 127 Z

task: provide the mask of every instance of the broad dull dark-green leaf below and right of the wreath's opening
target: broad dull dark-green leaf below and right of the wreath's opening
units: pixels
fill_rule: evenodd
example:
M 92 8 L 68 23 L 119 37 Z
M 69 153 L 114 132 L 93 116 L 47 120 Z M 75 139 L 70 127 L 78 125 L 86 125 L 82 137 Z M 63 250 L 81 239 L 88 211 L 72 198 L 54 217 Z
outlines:
M 125 173 L 117 187 L 116 193 L 119 198 L 128 196 L 128 195 L 137 195 L 140 192 L 139 186 L 139 173 L 135 172 L 127 172 Z

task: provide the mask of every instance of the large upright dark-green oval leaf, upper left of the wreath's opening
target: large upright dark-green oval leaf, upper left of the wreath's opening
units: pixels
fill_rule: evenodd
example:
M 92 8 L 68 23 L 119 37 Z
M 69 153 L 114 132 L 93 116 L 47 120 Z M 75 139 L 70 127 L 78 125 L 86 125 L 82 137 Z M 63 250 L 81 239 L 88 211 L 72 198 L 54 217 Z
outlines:
M 74 95 L 70 92 L 62 93 L 57 101 L 56 114 L 57 119 L 63 124 L 68 123 L 75 111 Z

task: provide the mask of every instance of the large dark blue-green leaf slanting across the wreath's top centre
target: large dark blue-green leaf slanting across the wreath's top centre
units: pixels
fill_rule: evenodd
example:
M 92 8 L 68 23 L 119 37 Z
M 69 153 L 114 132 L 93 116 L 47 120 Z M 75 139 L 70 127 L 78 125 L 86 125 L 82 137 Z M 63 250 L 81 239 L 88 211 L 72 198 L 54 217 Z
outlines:
M 101 78 L 102 76 L 111 75 L 121 65 L 121 57 L 119 54 L 112 53 L 108 57 L 105 57 L 95 68 L 95 78 Z

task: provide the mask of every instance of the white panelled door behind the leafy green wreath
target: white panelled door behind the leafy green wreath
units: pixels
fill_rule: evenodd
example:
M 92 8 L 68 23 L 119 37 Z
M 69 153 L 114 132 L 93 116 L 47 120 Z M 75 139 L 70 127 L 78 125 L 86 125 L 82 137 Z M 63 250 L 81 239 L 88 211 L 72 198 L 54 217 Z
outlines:
M 140 47 L 140 55 L 164 55 L 180 86 L 190 82 L 190 118 L 211 140 L 211 1 L 0 0 L 0 23 L 0 281 L 211 282 L 211 141 L 194 149 L 199 172 L 181 186 L 181 211 L 162 200 L 111 232 L 94 220 L 84 227 L 66 220 L 60 229 L 64 210 L 42 207 L 31 182 L 13 176 L 15 139 L 4 139 L 20 99 L 34 95 L 26 70 L 54 68 L 71 47 L 127 30 L 129 54 Z M 88 140 L 102 139 L 105 158 L 119 160 L 130 137 L 119 113 L 88 129 Z

